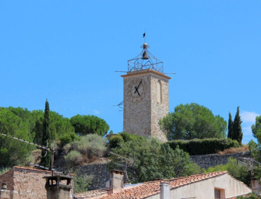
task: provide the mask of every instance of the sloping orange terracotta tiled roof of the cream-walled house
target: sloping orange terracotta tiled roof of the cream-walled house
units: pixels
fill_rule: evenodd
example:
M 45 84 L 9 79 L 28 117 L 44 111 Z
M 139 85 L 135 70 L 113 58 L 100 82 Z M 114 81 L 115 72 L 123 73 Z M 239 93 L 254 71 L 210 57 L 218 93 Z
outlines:
M 203 174 L 197 174 L 197 175 L 190 175 L 186 177 L 178 177 L 173 179 L 167 179 L 167 180 L 158 180 L 158 181 L 151 181 L 151 182 L 145 182 L 143 184 L 137 185 L 133 188 L 129 188 L 117 193 L 112 193 L 106 196 L 102 196 L 101 199 L 140 199 L 145 198 L 157 193 L 160 193 L 160 182 L 166 181 L 169 182 L 170 188 L 176 188 L 179 186 L 187 185 L 190 183 L 194 183 L 197 181 L 201 181 L 204 179 L 208 179 L 211 177 L 223 175 L 227 173 L 227 171 L 217 171 L 217 172 L 211 172 L 211 173 L 203 173 Z

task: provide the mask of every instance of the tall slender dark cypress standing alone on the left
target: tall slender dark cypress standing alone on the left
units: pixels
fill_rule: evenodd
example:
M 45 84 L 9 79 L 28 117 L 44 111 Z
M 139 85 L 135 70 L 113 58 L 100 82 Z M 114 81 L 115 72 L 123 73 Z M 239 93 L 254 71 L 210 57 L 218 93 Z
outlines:
M 51 131 L 50 131 L 50 117 L 49 117 L 49 103 L 46 99 L 45 101 L 45 110 L 44 110 L 44 122 L 43 122 L 43 139 L 42 145 L 47 146 L 50 148 L 50 140 L 51 138 Z M 45 166 L 50 166 L 51 162 L 51 154 L 49 151 L 42 150 L 42 159 L 41 164 Z

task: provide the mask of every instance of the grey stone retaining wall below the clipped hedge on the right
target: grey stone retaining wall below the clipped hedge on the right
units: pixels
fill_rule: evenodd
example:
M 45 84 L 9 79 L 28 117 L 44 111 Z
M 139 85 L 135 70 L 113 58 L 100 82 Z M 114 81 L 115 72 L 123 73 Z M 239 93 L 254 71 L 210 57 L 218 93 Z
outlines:
M 207 154 L 207 155 L 192 155 L 190 160 L 197 163 L 201 168 L 213 167 L 219 164 L 226 164 L 229 157 L 249 157 L 249 152 L 230 153 L 225 155 Z

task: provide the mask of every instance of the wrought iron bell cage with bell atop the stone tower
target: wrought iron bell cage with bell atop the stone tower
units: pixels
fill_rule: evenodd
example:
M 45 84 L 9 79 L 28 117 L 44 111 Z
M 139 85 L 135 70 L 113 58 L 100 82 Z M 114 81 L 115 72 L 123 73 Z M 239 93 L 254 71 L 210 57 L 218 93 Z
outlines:
M 163 73 L 163 61 L 157 59 L 148 51 L 150 46 L 144 43 L 141 48 L 143 50 L 137 57 L 128 60 L 128 72 L 152 69 Z

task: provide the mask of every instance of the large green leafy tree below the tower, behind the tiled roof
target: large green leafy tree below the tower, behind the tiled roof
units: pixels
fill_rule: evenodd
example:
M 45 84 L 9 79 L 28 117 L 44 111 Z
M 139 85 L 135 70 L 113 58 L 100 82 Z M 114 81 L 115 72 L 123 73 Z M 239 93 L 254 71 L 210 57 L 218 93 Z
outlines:
M 190 161 L 188 153 L 177 147 L 172 150 L 168 144 L 161 143 L 156 138 L 136 139 L 124 142 L 112 152 L 134 160 L 134 165 L 128 167 L 131 182 L 144 182 L 157 178 L 171 178 L 189 175 L 200 170 Z M 125 159 L 110 155 L 109 169 L 118 168 L 113 162 L 121 163 Z

